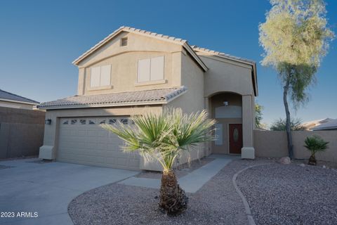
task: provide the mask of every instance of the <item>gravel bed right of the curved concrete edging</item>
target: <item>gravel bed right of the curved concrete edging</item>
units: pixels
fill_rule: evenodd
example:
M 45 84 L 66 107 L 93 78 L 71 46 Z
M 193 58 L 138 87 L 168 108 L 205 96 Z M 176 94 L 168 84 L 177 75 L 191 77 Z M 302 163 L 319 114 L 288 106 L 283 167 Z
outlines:
M 335 171 L 270 162 L 237 176 L 256 224 L 337 224 Z

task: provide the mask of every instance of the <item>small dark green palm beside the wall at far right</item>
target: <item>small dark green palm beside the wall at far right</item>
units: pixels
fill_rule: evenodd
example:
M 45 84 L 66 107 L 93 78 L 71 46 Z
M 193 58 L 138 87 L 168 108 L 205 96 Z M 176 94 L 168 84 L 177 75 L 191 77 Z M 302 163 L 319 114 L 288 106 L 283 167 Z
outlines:
M 304 140 L 304 143 L 304 147 L 308 148 L 308 150 L 311 152 L 308 165 L 316 165 L 317 160 L 315 154 L 318 152 L 323 152 L 329 148 L 329 141 L 324 141 L 320 136 L 317 135 L 307 136 L 307 138 Z

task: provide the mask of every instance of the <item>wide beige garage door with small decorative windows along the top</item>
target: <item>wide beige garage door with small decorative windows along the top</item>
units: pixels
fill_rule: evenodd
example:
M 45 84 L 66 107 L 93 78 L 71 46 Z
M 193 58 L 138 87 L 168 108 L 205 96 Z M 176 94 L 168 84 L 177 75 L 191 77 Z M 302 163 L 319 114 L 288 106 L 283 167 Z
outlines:
M 60 119 L 57 160 L 84 165 L 139 169 L 138 153 L 124 153 L 123 141 L 99 125 L 117 120 L 130 124 L 128 117 L 77 117 Z

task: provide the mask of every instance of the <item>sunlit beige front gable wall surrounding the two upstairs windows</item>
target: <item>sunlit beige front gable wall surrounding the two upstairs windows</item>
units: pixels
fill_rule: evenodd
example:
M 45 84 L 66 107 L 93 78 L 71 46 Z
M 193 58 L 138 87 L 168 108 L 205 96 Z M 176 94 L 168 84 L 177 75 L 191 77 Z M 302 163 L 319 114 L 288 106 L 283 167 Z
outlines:
M 120 46 L 121 37 L 128 37 L 127 46 Z M 79 63 L 78 94 L 107 94 L 180 86 L 181 51 L 183 51 L 183 47 L 179 44 L 145 37 L 140 34 L 122 32 Z M 164 56 L 164 83 L 136 84 L 138 60 L 157 56 Z M 107 89 L 91 89 L 91 67 L 101 65 L 112 65 L 112 86 Z

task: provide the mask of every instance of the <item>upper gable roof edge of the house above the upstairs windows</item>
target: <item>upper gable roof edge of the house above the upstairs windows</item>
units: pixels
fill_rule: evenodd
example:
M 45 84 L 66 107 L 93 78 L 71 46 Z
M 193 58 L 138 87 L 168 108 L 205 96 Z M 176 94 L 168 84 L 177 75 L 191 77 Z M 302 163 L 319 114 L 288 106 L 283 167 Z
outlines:
M 187 44 L 186 40 L 176 38 L 176 37 L 170 37 L 170 36 L 167 36 L 167 35 L 164 35 L 164 34 L 157 34 L 157 33 L 154 33 L 154 32 L 149 32 L 149 31 L 146 31 L 146 30 L 140 30 L 140 29 L 137 29 L 137 28 L 134 28 L 134 27 L 124 27 L 124 26 L 119 27 L 119 29 L 117 29 L 114 32 L 112 32 L 111 34 L 109 34 L 107 37 L 105 37 L 105 39 L 98 42 L 98 44 L 95 44 L 95 46 L 93 46 L 91 49 L 89 49 L 88 51 L 83 53 L 81 56 L 79 56 L 79 58 L 75 59 L 72 63 L 74 65 L 78 65 L 81 62 L 81 60 L 83 60 L 84 58 L 89 56 L 91 53 L 93 53 L 94 51 L 99 49 L 101 46 L 106 44 L 108 41 L 110 41 L 111 39 L 116 37 L 121 32 L 132 32 L 132 33 L 142 34 L 142 35 L 145 35 L 145 36 L 154 37 L 154 38 L 157 38 L 157 39 L 163 39 L 164 41 L 170 41 L 170 42 L 173 42 L 173 43 L 176 43 L 176 44 L 180 44 L 181 46 L 183 46 L 187 50 L 188 53 L 190 53 L 192 58 L 194 58 L 194 60 L 197 61 L 197 63 L 200 65 L 200 67 L 204 71 L 208 70 L 206 65 L 204 64 L 204 62 L 199 58 L 199 56 L 197 56 L 197 54 L 193 51 L 191 46 L 189 44 Z

